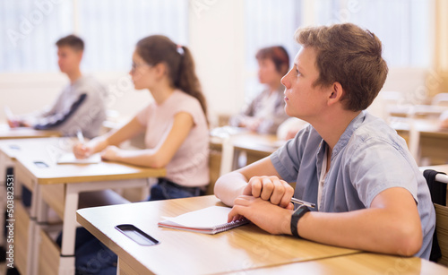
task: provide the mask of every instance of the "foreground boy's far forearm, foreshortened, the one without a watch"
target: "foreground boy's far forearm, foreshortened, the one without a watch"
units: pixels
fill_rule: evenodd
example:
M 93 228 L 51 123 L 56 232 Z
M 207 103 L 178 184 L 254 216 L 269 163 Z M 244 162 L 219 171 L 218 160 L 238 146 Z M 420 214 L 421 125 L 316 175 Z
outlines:
M 237 196 L 243 194 L 247 185 L 247 179 L 241 173 L 231 172 L 220 176 L 216 181 L 214 193 L 228 206 L 233 206 Z

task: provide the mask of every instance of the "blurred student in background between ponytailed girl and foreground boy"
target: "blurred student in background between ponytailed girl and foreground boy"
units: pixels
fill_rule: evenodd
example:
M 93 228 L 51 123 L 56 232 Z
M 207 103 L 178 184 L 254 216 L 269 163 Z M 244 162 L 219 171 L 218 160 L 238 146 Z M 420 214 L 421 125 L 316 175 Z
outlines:
M 232 126 L 246 127 L 257 133 L 276 133 L 288 116 L 285 113 L 281 76 L 289 70 L 289 56 L 284 47 L 264 47 L 256 54 L 258 79 L 266 89 L 258 95 L 244 112 L 230 118 Z

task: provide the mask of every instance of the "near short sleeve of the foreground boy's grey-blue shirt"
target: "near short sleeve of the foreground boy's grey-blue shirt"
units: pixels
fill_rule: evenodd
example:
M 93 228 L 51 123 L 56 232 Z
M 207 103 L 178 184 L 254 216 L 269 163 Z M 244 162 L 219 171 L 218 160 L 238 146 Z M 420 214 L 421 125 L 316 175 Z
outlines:
M 346 167 L 359 200 L 366 207 L 370 207 L 376 195 L 392 187 L 405 188 L 418 202 L 418 176 L 422 175 L 415 160 L 407 157 L 401 146 L 369 138 L 358 143 L 352 152 Z

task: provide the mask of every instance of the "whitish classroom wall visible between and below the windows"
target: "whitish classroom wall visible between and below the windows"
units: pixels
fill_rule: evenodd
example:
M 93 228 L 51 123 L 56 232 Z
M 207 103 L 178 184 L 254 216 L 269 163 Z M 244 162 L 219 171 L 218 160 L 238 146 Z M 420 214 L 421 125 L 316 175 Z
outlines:
M 244 2 L 195 0 L 191 7 L 188 46 L 208 100 L 211 125 L 216 125 L 218 115 L 235 114 L 245 103 Z M 399 91 L 415 104 L 422 103 L 416 95 L 425 89 L 427 72 L 425 68 L 391 68 L 383 90 Z M 125 71 L 93 75 L 107 86 L 108 108 L 120 116 L 134 116 L 151 102 L 148 91 L 134 90 Z M 51 104 L 67 83 L 62 73 L 0 73 L 0 122 L 5 118 L 4 105 L 16 114 L 39 110 Z M 376 102 L 372 110 L 380 116 L 382 104 Z

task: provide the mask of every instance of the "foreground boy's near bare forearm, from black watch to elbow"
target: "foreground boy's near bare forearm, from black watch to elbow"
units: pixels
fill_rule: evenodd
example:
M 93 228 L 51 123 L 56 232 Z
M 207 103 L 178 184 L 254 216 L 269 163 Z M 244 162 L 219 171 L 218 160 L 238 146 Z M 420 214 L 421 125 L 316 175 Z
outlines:
M 299 236 L 315 242 L 384 254 L 413 255 L 422 243 L 419 222 L 412 224 L 407 217 L 398 218 L 378 208 L 344 213 L 309 212 L 298 220 L 297 231 Z

